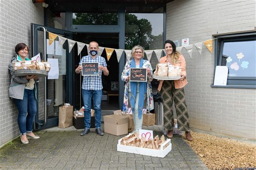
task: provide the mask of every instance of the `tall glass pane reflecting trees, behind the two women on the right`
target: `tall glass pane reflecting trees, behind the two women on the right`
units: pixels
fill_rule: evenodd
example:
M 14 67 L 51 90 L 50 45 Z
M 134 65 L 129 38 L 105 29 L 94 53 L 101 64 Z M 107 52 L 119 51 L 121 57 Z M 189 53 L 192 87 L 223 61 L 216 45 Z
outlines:
M 125 49 L 140 45 L 144 50 L 163 49 L 164 8 L 140 7 L 125 9 Z M 146 54 L 143 59 L 147 60 Z M 155 69 L 158 60 L 152 53 L 150 60 Z

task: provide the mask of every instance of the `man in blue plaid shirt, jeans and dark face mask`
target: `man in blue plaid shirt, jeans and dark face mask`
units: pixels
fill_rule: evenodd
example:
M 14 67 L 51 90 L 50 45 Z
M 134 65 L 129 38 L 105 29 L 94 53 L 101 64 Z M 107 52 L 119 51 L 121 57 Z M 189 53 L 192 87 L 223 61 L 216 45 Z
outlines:
M 107 69 L 106 60 L 99 56 L 99 44 L 95 41 L 91 41 L 89 44 L 90 55 L 84 56 L 79 66 L 76 68 L 76 74 L 80 74 L 82 71 L 82 63 L 99 63 L 99 75 L 96 76 L 84 76 L 83 84 L 82 84 L 82 96 L 85 107 L 85 129 L 81 132 L 81 136 L 84 136 L 90 132 L 90 109 L 91 109 L 91 97 L 93 97 L 93 107 L 95 109 L 95 128 L 96 133 L 98 135 L 104 135 L 104 133 L 100 130 L 101 124 L 101 96 L 102 96 L 102 81 L 101 75 L 102 72 L 105 76 L 109 75 L 109 70 Z

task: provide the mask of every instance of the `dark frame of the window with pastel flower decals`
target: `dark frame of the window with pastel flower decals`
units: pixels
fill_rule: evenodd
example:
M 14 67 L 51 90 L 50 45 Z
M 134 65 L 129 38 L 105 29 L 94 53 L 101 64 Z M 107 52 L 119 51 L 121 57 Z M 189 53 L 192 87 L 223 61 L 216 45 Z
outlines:
M 232 42 L 232 41 L 250 41 L 256 40 L 256 31 L 250 32 L 239 32 L 239 33 L 231 33 L 231 34 L 218 34 L 213 35 L 215 39 L 215 49 L 214 49 L 214 76 L 215 69 L 217 65 L 222 64 L 223 58 L 223 44 L 224 42 Z M 224 56 L 225 57 L 225 56 Z M 256 64 L 255 64 L 256 67 Z M 256 88 L 256 77 L 229 77 L 227 80 L 227 86 L 214 86 L 211 87 L 227 87 L 227 88 Z

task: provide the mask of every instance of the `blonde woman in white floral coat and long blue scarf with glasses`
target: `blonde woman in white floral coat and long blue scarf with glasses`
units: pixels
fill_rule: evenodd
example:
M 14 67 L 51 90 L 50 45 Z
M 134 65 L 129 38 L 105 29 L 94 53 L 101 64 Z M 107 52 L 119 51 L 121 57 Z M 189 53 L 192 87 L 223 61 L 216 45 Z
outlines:
M 142 46 L 134 46 L 131 53 L 132 60 L 126 62 L 121 76 L 121 79 L 126 82 L 123 96 L 123 111 L 127 112 L 128 107 L 132 108 L 135 126 L 133 132 L 138 132 L 139 129 L 142 129 L 142 109 L 154 109 L 152 86 L 150 83 L 153 80 L 153 73 L 150 62 L 142 59 L 144 56 Z M 147 83 L 130 82 L 130 68 L 147 68 Z

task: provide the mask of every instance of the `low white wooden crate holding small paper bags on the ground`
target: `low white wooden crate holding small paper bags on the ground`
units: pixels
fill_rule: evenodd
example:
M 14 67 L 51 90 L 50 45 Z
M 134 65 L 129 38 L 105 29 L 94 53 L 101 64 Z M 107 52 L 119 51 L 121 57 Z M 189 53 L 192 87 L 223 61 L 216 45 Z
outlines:
M 163 158 L 171 151 L 171 139 L 168 139 L 166 140 L 166 142 L 162 143 L 160 150 L 121 145 L 121 140 L 122 138 L 118 140 L 118 144 L 117 144 L 117 151 L 119 152 L 128 152 L 128 153 L 135 153 L 140 155 L 155 156 L 155 157 Z M 169 145 L 165 149 L 163 149 L 163 147 L 166 144 L 169 144 Z

